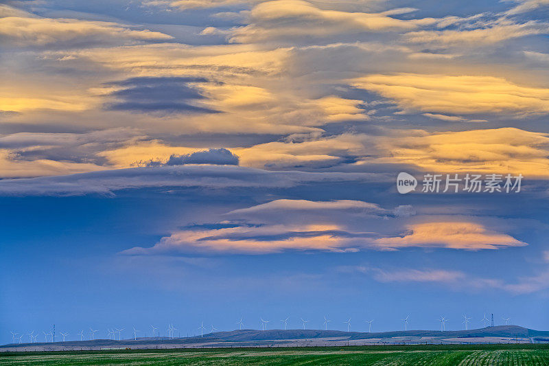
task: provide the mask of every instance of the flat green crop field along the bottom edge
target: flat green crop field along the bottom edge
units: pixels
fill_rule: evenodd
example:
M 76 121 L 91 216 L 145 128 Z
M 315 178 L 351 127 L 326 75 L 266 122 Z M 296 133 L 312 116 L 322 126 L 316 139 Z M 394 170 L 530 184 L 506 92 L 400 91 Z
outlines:
M 410 345 L 0 354 L 0 365 L 549 365 L 548 345 Z

